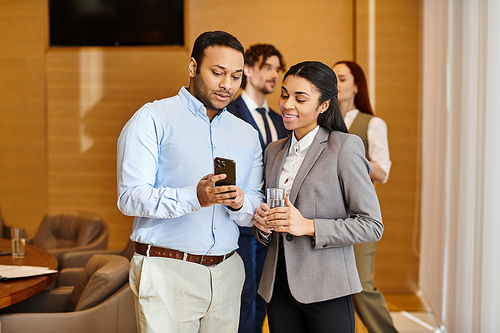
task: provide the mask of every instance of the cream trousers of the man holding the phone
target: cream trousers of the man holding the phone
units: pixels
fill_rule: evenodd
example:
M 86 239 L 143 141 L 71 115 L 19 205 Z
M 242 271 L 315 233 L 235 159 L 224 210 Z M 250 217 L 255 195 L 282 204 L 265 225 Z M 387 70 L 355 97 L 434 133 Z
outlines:
M 213 266 L 135 253 L 130 287 L 139 332 L 235 333 L 244 278 L 237 253 Z

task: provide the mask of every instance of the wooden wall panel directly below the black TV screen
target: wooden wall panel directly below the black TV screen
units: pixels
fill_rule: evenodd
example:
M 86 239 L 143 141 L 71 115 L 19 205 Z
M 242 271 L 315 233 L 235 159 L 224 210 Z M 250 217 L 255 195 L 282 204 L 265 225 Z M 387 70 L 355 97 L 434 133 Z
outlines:
M 133 218 L 116 207 L 116 141 L 143 104 L 187 84 L 185 48 L 53 48 L 47 54 L 51 211 L 91 210 L 120 248 Z

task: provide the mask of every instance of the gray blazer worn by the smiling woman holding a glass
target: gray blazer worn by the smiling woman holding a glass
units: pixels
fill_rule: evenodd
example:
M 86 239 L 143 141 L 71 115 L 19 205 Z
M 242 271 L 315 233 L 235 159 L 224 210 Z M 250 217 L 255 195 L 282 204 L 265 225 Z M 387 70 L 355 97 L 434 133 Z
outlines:
M 278 187 L 290 138 L 272 142 L 264 156 L 267 187 Z M 320 302 L 362 290 L 352 244 L 380 240 L 380 206 L 370 181 L 371 164 L 358 136 L 320 127 L 297 173 L 290 201 L 314 219 L 310 236 L 272 233 L 258 293 L 273 294 L 278 248 L 284 242 L 290 291 L 301 303 Z M 254 228 L 257 239 L 266 244 Z

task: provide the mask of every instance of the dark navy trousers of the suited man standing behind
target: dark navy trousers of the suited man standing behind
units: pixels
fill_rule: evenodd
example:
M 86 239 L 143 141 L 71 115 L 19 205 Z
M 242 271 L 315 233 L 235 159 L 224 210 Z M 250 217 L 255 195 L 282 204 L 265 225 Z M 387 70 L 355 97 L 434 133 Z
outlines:
M 264 261 L 266 260 L 267 247 L 259 243 L 253 233 L 245 233 L 245 230 L 240 234 L 238 245 L 239 248 L 236 252 L 238 252 L 245 264 L 245 283 L 241 293 L 238 332 L 260 333 L 266 318 L 266 301 L 257 294 L 257 288 L 259 287 Z

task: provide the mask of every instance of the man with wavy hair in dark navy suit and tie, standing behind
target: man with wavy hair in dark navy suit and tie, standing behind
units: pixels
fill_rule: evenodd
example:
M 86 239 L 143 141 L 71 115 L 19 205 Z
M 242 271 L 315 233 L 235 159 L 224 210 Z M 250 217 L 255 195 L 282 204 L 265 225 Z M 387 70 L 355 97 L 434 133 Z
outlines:
M 266 146 L 287 136 L 281 115 L 267 105 L 268 94 L 277 84 L 285 64 L 281 53 L 269 44 L 255 44 L 245 51 L 241 95 L 227 110 L 251 124 L 258 132 L 262 152 Z M 257 242 L 252 228 L 240 228 L 239 249 L 245 264 L 246 279 L 241 295 L 240 333 L 262 332 L 266 302 L 257 294 L 267 248 Z

